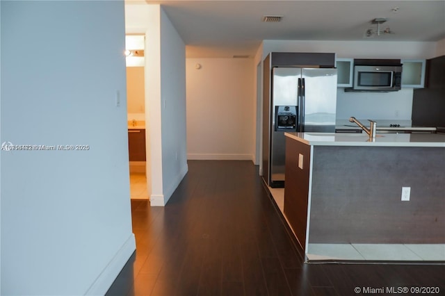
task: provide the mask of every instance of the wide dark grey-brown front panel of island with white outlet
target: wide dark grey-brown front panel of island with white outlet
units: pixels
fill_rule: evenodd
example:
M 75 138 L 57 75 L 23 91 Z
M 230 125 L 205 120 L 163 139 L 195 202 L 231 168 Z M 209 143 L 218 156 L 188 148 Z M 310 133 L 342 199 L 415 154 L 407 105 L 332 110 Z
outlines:
M 310 243 L 445 243 L 444 148 L 318 146 L 312 158 Z

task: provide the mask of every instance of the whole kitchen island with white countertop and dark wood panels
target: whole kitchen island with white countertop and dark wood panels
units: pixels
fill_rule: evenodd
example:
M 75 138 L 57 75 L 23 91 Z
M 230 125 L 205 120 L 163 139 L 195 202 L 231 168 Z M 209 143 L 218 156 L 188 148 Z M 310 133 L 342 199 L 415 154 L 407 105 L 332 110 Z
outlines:
M 445 135 L 285 135 L 284 215 L 307 258 L 311 246 L 382 244 L 445 258 Z

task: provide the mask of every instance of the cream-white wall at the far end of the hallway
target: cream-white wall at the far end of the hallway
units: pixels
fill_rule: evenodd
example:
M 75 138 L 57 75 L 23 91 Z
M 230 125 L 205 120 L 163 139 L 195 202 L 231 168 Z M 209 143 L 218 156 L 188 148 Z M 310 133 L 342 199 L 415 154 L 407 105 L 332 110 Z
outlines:
M 186 59 L 188 159 L 254 161 L 252 69 L 249 58 Z

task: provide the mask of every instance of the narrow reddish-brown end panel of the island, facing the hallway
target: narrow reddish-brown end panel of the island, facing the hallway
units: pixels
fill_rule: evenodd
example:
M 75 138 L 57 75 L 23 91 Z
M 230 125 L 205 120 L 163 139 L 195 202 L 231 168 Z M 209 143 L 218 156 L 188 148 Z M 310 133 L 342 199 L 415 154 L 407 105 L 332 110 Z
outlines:
M 303 156 L 302 169 L 298 167 L 299 154 Z M 302 249 L 305 249 L 306 243 L 310 154 L 309 145 L 286 137 L 284 215 L 291 224 Z

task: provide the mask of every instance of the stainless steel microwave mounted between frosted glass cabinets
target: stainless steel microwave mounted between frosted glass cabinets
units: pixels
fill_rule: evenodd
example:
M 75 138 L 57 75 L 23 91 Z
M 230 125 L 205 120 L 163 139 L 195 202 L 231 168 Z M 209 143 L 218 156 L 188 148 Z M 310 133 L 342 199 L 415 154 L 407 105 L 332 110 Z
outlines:
M 402 65 L 354 66 L 353 90 L 391 92 L 400 90 Z

